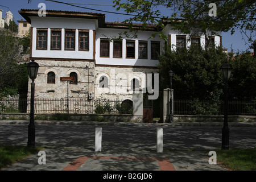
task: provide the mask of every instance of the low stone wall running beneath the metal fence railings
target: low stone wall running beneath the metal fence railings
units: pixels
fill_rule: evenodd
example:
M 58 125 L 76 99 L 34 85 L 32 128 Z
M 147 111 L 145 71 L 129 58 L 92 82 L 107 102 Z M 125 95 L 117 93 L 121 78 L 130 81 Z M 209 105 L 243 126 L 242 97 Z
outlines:
M 59 119 L 58 119 L 59 115 Z M 35 114 L 35 120 L 67 120 L 71 121 L 113 121 L 113 122 L 141 122 L 141 116 L 133 116 L 132 114 Z M 30 119 L 28 113 L 0 113 L 0 119 L 6 120 L 27 120 Z M 174 122 L 224 122 L 222 115 L 175 115 Z M 255 116 L 247 115 L 231 115 L 228 122 L 256 122 Z

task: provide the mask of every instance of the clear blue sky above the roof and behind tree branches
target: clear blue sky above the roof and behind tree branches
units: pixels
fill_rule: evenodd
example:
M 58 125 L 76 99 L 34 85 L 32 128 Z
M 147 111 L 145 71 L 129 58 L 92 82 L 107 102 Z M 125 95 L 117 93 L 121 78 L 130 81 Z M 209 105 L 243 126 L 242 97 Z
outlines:
M 67 3 L 82 3 L 86 5 L 76 5 L 82 6 L 90 9 L 102 10 L 102 11 L 111 11 L 117 13 L 124 13 L 123 11 L 119 10 L 116 11 L 113 5 L 113 0 L 57 0 L 61 2 Z M 0 2 L 0 9 L 3 10 L 3 17 L 5 17 L 6 11 L 11 11 L 14 15 L 14 21 L 18 24 L 17 20 L 22 19 L 23 17 L 19 14 L 20 9 L 40 9 L 38 7 L 39 3 L 46 4 L 46 10 L 64 10 L 64 11 L 85 11 L 85 12 L 92 12 L 92 13 L 102 13 L 106 15 L 106 22 L 122 22 L 123 20 L 129 18 L 128 15 L 117 15 L 112 13 L 104 13 L 101 11 L 94 11 L 94 10 L 87 10 L 82 9 L 80 7 L 73 7 L 69 5 L 63 5 L 56 2 L 50 2 L 46 0 L 32 0 L 28 3 L 28 0 L 6 0 Z M 111 5 L 111 6 L 110 6 Z M 165 12 L 168 14 L 168 11 Z M 170 12 L 171 13 L 171 12 Z M 24 18 L 23 18 L 24 19 Z M 254 38 L 255 39 L 255 38 Z M 240 31 L 236 31 L 233 35 L 230 32 L 222 32 L 222 46 L 228 48 L 228 51 L 231 52 L 231 48 L 233 48 L 234 52 L 242 52 L 246 51 L 248 48 L 245 45 L 245 40 L 240 33 Z M 249 51 L 253 51 L 253 49 L 249 49 Z

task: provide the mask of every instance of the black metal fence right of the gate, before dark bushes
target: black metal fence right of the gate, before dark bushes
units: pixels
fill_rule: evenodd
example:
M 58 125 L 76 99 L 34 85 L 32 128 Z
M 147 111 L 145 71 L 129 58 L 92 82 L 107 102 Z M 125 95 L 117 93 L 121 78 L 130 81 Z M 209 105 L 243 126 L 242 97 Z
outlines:
M 229 115 L 256 115 L 256 102 L 228 101 Z M 224 101 L 174 100 L 174 114 L 223 115 Z

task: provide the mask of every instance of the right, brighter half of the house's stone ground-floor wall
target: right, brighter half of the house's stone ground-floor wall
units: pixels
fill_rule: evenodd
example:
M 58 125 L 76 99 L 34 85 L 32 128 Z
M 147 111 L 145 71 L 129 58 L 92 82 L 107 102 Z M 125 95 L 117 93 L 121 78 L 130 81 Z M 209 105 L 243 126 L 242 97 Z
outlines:
M 132 80 L 139 81 L 139 90 L 146 86 L 147 73 L 157 73 L 156 68 L 98 67 L 95 75 L 95 97 L 111 100 L 133 100 Z M 108 86 L 100 85 L 100 79 L 108 78 Z M 146 77 L 145 77 L 146 76 Z

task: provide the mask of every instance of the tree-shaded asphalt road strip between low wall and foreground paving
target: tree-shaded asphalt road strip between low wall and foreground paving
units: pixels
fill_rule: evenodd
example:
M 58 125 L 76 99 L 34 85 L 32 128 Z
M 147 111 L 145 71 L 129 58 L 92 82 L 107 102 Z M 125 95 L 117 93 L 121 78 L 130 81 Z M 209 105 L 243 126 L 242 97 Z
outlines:
M 155 150 L 158 126 L 36 126 L 36 145 L 93 150 L 96 127 L 102 127 L 102 148 Z M 163 126 L 164 148 L 212 150 L 221 146 L 221 127 Z M 0 143 L 27 144 L 27 125 L 0 125 Z M 230 127 L 230 147 L 256 147 L 256 127 Z

